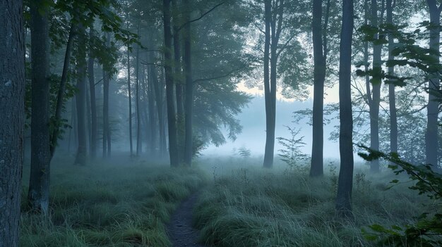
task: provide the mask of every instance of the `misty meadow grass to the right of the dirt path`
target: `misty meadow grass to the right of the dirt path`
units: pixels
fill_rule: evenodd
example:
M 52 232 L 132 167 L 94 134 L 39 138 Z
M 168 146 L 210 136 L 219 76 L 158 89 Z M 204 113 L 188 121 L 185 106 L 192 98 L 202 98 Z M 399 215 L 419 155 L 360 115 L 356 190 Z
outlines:
M 368 167 L 354 172 L 354 222 L 335 214 L 338 169 L 325 164 L 323 179 L 311 179 L 302 165 L 271 170 L 261 160 L 201 160 L 213 183 L 203 190 L 194 213 L 201 243 L 209 246 L 376 246 L 364 239 L 371 224 L 413 224 L 423 212 L 425 196 L 400 184 L 387 189 L 390 172 L 371 177 Z M 405 179 L 405 177 L 402 177 Z M 392 243 L 393 246 L 393 243 Z

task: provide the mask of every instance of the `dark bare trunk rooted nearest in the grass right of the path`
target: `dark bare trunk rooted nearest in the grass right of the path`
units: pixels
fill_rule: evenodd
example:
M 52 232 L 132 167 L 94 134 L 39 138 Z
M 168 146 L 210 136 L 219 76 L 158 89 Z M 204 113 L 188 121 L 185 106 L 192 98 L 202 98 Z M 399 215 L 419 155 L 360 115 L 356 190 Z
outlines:
M 354 164 L 351 87 L 353 22 L 353 0 L 343 0 L 339 64 L 340 171 L 336 210 L 342 217 L 350 218 L 352 218 L 351 200 Z

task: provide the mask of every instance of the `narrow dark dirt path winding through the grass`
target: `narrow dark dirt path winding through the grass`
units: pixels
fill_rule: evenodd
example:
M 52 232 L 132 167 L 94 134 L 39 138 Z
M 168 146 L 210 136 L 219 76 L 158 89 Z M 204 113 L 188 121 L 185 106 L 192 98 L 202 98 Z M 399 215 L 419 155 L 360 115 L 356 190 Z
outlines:
M 198 193 L 183 201 L 167 225 L 167 234 L 174 247 L 204 247 L 196 243 L 198 230 L 192 227 L 192 213 Z

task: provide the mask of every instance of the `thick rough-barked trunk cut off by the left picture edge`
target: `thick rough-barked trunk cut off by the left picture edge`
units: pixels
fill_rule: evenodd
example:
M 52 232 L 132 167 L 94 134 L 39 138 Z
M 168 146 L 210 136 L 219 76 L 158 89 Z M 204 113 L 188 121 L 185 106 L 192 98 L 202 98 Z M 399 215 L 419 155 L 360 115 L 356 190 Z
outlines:
M 23 1 L 0 2 L 0 246 L 18 246 L 23 124 L 25 43 Z

